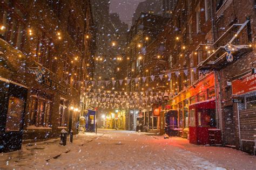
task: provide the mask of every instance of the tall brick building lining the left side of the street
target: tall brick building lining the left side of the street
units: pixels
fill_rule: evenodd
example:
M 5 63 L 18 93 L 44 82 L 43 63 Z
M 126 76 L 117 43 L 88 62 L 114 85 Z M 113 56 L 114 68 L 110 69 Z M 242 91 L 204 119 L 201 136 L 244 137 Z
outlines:
M 1 2 L 0 145 L 6 151 L 20 147 L 22 139 L 77 132 L 80 89 L 94 71 L 90 5 L 89 0 Z M 8 146 L 17 141 L 17 148 Z

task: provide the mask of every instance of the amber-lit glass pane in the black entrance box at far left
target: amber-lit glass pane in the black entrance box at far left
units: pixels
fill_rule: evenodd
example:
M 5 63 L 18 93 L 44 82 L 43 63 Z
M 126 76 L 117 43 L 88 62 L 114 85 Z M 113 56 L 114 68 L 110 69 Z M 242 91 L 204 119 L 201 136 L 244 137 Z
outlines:
M 24 101 L 10 96 L 8 112 L 6 115 L 5 132 L 19 131 L 21 128 L 22 114 L 24 111 Z

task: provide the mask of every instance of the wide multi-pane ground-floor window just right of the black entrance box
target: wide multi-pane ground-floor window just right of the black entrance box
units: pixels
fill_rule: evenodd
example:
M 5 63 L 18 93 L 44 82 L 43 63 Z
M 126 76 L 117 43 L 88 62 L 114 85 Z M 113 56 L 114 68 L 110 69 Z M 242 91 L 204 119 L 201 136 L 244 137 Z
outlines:
M 29 125 L 49 127 L 52 95 L 41 90 L 32 89 L 31 96 L 29 104 Z

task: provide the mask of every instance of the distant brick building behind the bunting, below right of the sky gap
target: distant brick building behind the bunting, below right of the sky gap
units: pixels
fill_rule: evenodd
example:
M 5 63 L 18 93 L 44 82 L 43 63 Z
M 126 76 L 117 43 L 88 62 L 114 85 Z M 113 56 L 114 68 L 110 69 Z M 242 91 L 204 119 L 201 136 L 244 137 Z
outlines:
M 126 56 L 127 56 L 127 79 L 131 79 L 129 83 L 127 83 L 126 90 L 133 93 L 140 94 L 144 90 L 143 80 L 139 79 L 143 77 L 145 74 L 150 74 L 149 70 L 146 72 L 146 69 L 150 69 L 152 73 L 159 73 L 160 70 L 157 68 L 156 72 L 153 70 L 153 67 L 157 65 L 156 62 L 150 62 L 151 58 L 154 56 L 149 56 L 149 52 L 153 51 L 152 55 L 157 55 L 158 47 L 150 47 L 148 50 L 148 46 L 156 39 L 157 35 L 163 31 L 165 24 L 168 22 L 170 18 L 162 17 L 159 15 L 154 15 L 152 13 L 141 12 L 140 17 L 136 20 L 136 22 L 132 25 L 129 34 L 127 36 L 127 47 L 126 47 Z M 151 45 L 153 46 L 153 45 Z M 153 48 L 153 49 L 152 49 Z M 136 79 L 139 79 L 136 82 Z M 150 81 L 150 80 L 147 80 Z M 137 96 L 138 97 L 138 96 Z M 130 130 L 136 128 L 136 119 L 139 111 L 143 111 L 144 117 L 149 115 L 149 111 L 151 107 L 144 106 L 145 108 L 134 107 L 129 111 L 129 126 Z M 145 110 L 144 110 L 145 109 Z M 146 113 L 147 112 L 147 113 Z M 147 116 L 148 117 L 148 116 Z M 145 127 L 149 126 L 147 118 L 143 118 L 143 124 Z M 146 125 L 147 124 L 147 125 Z

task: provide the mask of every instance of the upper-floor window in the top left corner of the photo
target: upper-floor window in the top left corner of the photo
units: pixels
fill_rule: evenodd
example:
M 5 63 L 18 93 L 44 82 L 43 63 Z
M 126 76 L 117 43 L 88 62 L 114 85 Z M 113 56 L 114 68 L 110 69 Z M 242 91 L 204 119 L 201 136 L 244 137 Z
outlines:
M 17 49 L 22 49 L 22 42 L 25 39 L 24 11 L 23 6 L 16 1 L 5 1 L 0 4 L 0 24 L 5 27 L 0 31 L 0 38 Z

